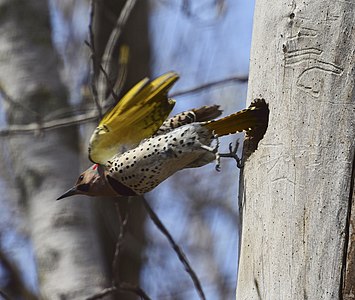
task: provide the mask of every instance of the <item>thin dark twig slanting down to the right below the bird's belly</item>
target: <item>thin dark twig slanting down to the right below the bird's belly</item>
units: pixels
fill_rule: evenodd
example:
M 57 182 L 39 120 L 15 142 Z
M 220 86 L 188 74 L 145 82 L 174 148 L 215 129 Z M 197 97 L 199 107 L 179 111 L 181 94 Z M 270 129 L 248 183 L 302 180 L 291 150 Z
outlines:
M 152 219 L 152 221 L 154 222 L 154 224 L 158 227 L 158 229 L 165 235 L 165 237 L 168 239 L 170 245 L 172 246 L 172 248 L 174 249 L 175 253 L 177 254 L 177 256 L 179 257 L 179 260 L 181 261 L 181 263 L 183 264 L 186 272 L 190 275 L 195 288 L 200 296 L 201 299 L 205 300 L 206 296 L 202 290 L 202 286 L 201 283 L 195 273 L 195 271 L 192 269 L 192 267 L 190 266 L 190 263 L 185 255 L 185 253 L 183 252 L 183 250 L 179 247 L 179 245 L 174 241 L 173 237 L 171 236 L 170 232 L 166 229 L 166 227 L 163 225 L 163 223 L 160 221 L 159 217 L 156 215 L 156 213 L 153 211 L 153 209 L 150 207 L 150 205 L 148 204 L 147 200 L 143 197 L 143 204 L 145 206 L 145 209 L 147 210 L 150 218 Z

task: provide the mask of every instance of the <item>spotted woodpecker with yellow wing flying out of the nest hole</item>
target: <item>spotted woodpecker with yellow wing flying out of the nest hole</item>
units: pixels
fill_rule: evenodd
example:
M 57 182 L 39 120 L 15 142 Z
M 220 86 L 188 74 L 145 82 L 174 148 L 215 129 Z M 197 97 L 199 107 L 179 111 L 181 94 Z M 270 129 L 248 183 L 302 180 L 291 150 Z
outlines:
M 237 147 L 232 150 L 230 146 L 227 154 L 218 152 L 219 137 L 242 131 L 250 133 L 264 125 L 268 117 L 265 100 L 256 99 L 248 108 L 220 119 L 215 118 L 222 111 L 218 105 L 212 105 L 163 120 L 174 104 L 167 93 L 177 79 L 176 73 L 169 72 L 152 82 L 145 80 L 139 83 L 138 87 L 133 87 L 134 91 L 128 92 L 129 96 L 123 97 L 123 104 L 121 100 L 103 117 L 89 143 L 89 158 L 94 164 L 80 174 L 75 185 L 57 200 L 80 194 L 143 195 L 180 170 L 201 167 L 213 161 L 217 162 L 218 170 L 221 156 L 238 161 Z M 142 86 L 144 92 L 139 93 Z M 153 103 L 144 98 L 152 98 L 151 93 L 157 98 L 150 100 Z M 137 94 L 139 99 L 135 98 Z M 148 103 L 150 109 L 137 116 L 139 108 L 145 108 L 142 102 Z M 131 115 L 131 111 L 135 114 Z M 138 125 L 131 125 L 135 128 L 122 125 L 127 118 L 133 118 L 134 122 L 130 123 Z M 121 132 L 119 127 L 134 137 Z M 136 130 L 145 132 L 136 133 Z

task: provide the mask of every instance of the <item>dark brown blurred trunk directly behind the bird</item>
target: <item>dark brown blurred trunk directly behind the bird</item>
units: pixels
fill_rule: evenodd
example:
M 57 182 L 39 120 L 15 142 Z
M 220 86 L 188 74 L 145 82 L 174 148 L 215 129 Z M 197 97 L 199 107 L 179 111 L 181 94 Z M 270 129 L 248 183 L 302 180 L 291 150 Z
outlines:
M 94 18 L 95 51 L 100 59 L 102 59 L 109 36 L 125 3 L 126 1 L 123 0 L 96 2 Z M 129 60 L 126 66 L 127 78 L 122 86 L 123 91 L 121 91 L 120 96 L 144 77 L 150 77 L 150 41 L 148 38 L 148 3 L 146 1 L 137 1 L 123 28 L 122 35 L 115 45 L 116 50 L 113 53 L 110 66 L 112 72 L 109 74 L 112 82 L 116 82 L 117 73 L 122 72 L 122 70 L 117 69 L 119 47 L 122 45 L 129 47 Z M 92 132 L 93 130 L 90 130 L 88 134 L 90 135 Z M 112 270 L 114 273 L 110 276 L 115 277 L 117 282 L 139 286 L 143 263 L 142 254 L 146 242 L 144 230 L 146 212 L 139 197 L 132 198 L 129 204 L 128 197 L 118 200 L 122 216 L 126 215 L 127 209 L 129 210 L 128 229 L 125 233 L 124 247 L 121 249 L 118 267 L 116 270 Z M 118 222 L 114 201 L 117 201 L 117 198 L 112 199 L 112 201 L 107 198 L 95 199 L 101 245 L 108 269 L 111 269 L 119 227 L 121 226 Z M 122 300 L 137 299 L 136 295 L 127 292 L 117 292 L 115 297 Z

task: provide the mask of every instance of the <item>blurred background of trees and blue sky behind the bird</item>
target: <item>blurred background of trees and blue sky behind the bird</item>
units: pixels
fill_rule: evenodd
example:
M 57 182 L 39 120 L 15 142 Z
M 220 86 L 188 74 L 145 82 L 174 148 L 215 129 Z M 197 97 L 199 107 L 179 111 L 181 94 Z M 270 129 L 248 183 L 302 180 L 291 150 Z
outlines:
M 90 165 L 87 144 L 99 120 L 85 45 L 89 23 L 100 59 L 124 7 L 123 0 L 0 4 L 0 298 L 84 299 L 115 278 L 151 299 L 199 299 L 139 198 L 121 201 L 128 228 L 114 270 L 121 224 L 112 199 L 55 201 Z M 109 76 L 121 76 L 122 95 L 145 76 L 174 70 L 180 80 L 170 93 L 173 114 L 208 104 L 220 105 L 223 115 L 240 110 L 247 102 L 253 8 L 254 1 L 244 0 L 137 1 Z M 129 49 L 125 65 L 122 45 Z M 113 101 L 101 100 L 103 108 Z M 242 137 L 223 138 L 220 150 Z M 186 253 L 207 299 L 235 298 L 238 181 L 235 161 L 223 160 L 221 172 L 213 164 L 184 170 L 145 196 Z M 138 298 L 121 292 L 104 299 L 110 297 Z

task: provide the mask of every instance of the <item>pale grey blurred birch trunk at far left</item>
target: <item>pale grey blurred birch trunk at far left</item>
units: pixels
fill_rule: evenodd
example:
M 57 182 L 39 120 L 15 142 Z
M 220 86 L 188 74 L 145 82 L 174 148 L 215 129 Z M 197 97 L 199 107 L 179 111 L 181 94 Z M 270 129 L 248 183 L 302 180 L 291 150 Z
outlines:
M 7 107 L 8 122 L 40 122 L 68 106 L 47 1 L 1 1 L 0 12 L 0 82 L 20 103 Z M 105 285 L 89 200 L 55 201 L 79 173 L 77 139 L 66 128 L 6 140 L 44 299 L 84 299 Z

